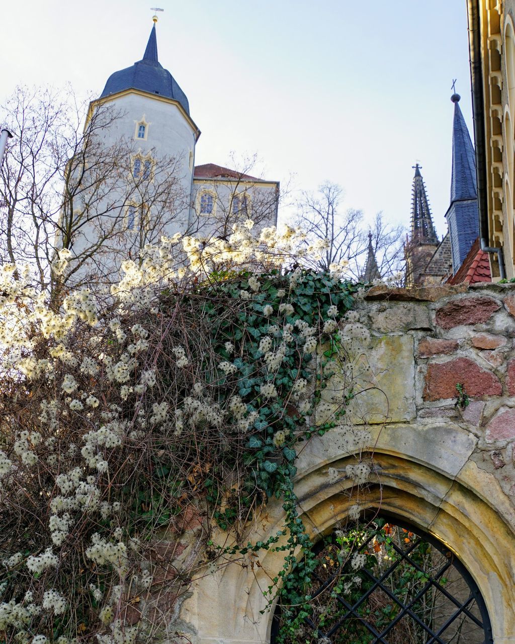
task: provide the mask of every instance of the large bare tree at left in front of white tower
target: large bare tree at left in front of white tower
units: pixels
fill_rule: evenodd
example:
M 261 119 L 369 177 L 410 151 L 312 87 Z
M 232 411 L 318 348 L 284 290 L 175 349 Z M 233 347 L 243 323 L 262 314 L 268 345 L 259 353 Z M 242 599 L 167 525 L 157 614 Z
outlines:
M 3 114 L 15 137 L 0 169 L 0 260 L 29 263 L 42 289 L 112 278 L 113 256 L 137 260 L 187 207 L 176 159 L 151 151 L 135 166 L 133 140 L 107 142 L 123 116 L 112 104 L 18 88 Z

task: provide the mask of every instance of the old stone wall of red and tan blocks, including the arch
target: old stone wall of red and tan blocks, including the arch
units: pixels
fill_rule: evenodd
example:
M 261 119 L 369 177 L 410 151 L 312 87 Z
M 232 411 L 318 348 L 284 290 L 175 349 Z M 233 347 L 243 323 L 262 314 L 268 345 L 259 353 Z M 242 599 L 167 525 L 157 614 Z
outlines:
M 324 400 L 338 404 L 342 387 L 353 383 L 348 430 L 364 430 L 366 444 L 351 448 L 343 427 L 305 444 L 295 479 L 304 525 L 316 539 L 359 504 L 431 533 L 478 584 L 494 642 L 514 644 L 515 288 L 375 287 L 358 311 L 370 338 L 350 341 Z M 371 464 L 364 487 L 345 475 L 359 459 Z M 283 518 L 281 502 L 269 502 L 248 540 L 276 535 Z M 187 519 L 175 558 L 197 556 L 199 526 Z M 225 534 L 213 538 L 227 544 Z M 173 565 L 165 542 L 160 560 L 151 562 L 154 574 Z M 164 635 L 171 641 L 182 634 L 206 644 L 267 642 L 272 612 L 263 590 L 282 564 L 283 553 L 267 551 L 215 572 L 201 569 L 181 601 L 167 599 L 173 609 L 166 598 L 159 605 L 158 576 L 145 601 L 169 610 Z

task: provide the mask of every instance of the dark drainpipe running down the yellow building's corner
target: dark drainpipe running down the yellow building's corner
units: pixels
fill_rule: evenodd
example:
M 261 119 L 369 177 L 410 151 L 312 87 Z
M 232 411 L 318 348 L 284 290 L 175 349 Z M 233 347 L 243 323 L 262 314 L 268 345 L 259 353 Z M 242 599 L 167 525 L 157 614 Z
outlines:
M 474 144 L 476 149 L 476 176 L 478 184 L 479 236 L 482 251 L 496 253 L 501 279 L 506 278 L 502 247 L 488 245 L 488 196 L 485 141 L 485 112 L 483 102 L 483 70 L 481 61 L 481 0 L 467 0 L 469 23 L 469 53 L 471 60 L 472 108 L 474 120 Z

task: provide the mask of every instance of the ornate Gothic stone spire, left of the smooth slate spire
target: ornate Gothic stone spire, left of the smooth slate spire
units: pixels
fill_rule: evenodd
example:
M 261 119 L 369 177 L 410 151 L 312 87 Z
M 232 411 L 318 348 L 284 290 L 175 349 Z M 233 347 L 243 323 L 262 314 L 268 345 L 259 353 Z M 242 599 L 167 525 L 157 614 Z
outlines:
M 426 186 L 420 174 L 420 166 L 417 163 L 413 167 L 415 167 L 415 176 L 411 202 L 411 234 L 404 249 L 407 286 L 422 283 L 422 274 L 439 243 L 429 208 Z

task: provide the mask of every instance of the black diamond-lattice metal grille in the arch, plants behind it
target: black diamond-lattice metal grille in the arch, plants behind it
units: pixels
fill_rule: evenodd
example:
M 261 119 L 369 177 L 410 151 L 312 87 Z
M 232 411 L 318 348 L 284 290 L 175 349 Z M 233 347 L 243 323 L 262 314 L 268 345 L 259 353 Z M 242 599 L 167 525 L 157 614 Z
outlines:
M 420 531 L 418 531 L 420 533 Z M 350 535 L 350 536 L 349 536 Z M 491 644 L 480 591 L 441 542 L 386 520 L 333 533 L 315 548 L 310 614 L 279 638 L 295 607 L 279 605 L 272 644 Z M 359 565 L 362 564 L 362 565 Z

